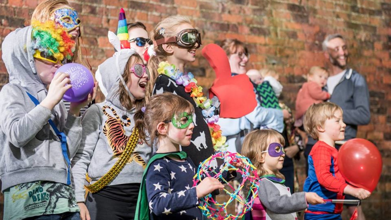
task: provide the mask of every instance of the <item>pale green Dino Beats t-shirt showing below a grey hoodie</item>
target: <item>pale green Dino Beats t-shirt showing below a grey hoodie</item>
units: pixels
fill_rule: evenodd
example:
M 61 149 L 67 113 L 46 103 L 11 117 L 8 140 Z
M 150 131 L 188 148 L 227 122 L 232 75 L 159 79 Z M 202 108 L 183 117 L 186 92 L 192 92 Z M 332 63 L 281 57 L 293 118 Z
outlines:
M 4 191 L 4 219 L 78 212 L 71 186 L 48 181 L 28 182 Z

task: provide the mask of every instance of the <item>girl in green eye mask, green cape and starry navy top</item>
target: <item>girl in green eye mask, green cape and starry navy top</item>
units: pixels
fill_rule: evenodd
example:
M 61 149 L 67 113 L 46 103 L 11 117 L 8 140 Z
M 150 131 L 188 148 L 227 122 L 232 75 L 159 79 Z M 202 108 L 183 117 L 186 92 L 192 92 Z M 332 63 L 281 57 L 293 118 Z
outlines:
M 194 106 L 172 93 L 151 97 L 145 108 L 136 113 L 140 137 L 147 141 L 147 130 L 149 141 L 156 141 L 158 150 L 144 173 L 135 219 L 149 219 L 150 211 L 155 220 L 203 219 L 198 199 L 224 187 L 219 180 L 206 177 L 192 188 L 196 167 L 179 145 L 190 145 L 193 115 Z

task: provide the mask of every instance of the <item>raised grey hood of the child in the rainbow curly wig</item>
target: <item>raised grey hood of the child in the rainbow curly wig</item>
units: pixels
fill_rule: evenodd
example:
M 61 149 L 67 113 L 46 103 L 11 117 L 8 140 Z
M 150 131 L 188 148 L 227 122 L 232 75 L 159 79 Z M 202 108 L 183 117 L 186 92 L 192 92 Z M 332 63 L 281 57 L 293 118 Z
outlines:
M 30 49 L 31 32 L 32 27 L 28 26 L 9 33 L 2 43 L 2 59 L 9 74 L 9 82 L 21 85 L 30 94 L 36 96 L 38 92 L 45 92 L 46 86 L 35 69 L 33 53 Z

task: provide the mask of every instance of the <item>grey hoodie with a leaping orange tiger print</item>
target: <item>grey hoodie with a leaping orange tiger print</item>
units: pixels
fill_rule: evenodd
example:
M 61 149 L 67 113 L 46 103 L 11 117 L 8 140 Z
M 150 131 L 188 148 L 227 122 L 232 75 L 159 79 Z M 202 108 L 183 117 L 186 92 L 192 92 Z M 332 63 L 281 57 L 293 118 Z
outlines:
M 83 115 L 83 138 L 79 150 L 72 159 L 77 202 L 84 202 L 86 173 L 88 172 L 92 179 L 91 184 L 107 173 L 120 156 L 114 155 L 113 149 L 125 147 L 134 128 L 135 110 L 126 110 L 120 104 L 117 94 L 120 75 L 124 72 L 127 60 L 134 53 L 133 49 L 122 49 L 98 67 L 102 77 L 100 83 L 106 88 L 108 95 L 103 103 L 92 105 Z M 107 130 L 109 131 L 106 132 Z M 114 142 L 121 144 L 113 144 Z M 141 183 L 151 152 L 152 148 L 139 140 L 131 159 L 109 186 Z

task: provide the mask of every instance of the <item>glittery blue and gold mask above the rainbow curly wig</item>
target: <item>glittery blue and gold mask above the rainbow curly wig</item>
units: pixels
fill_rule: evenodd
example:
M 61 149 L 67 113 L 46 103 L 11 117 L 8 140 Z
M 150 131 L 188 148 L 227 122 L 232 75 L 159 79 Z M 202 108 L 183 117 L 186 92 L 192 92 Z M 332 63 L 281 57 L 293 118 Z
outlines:
M 77 11 L 74 8 L 59 8 L 51 13 L 52 19 L 62 25 L 68 31 L 80 27 L 80 18 Z

